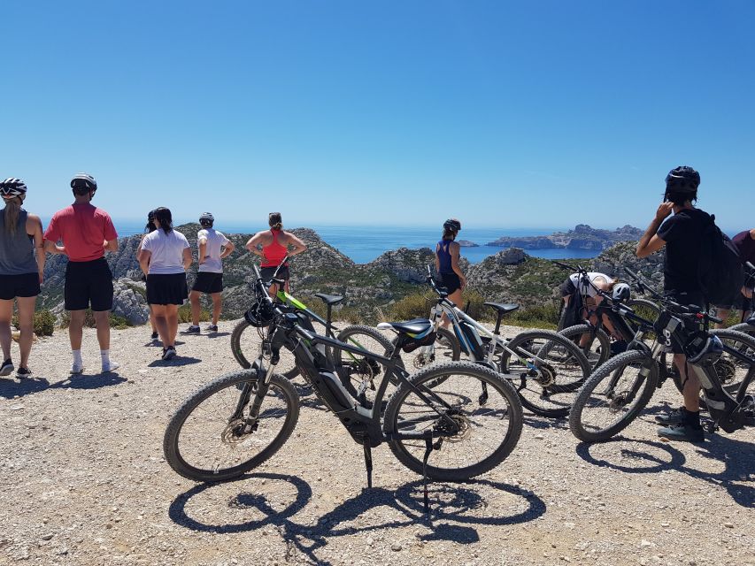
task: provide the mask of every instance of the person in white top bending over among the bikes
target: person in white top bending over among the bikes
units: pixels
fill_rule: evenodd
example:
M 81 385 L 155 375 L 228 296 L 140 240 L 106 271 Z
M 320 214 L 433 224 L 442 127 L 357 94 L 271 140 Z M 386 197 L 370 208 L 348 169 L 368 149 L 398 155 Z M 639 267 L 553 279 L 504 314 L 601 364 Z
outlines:
M 610 293 L 616 283 L 618 283 L 618 279 L 612 279 L 605 273 L 600 272 L 588 272 L 587 277 L 589 282 L 582 279 L 582 273 L 572 273 L 559 287 L 561 298 L 564 300 L 564 311 L 560 324 L 562 327 L 560 330 L 571 325 L 581 325 L 586 320 L 591 325 L 597 325 L 597 314 L 595 311 L 597 305 L 603 302 L 603 296 L 598 294 L 597 290 Z M 605 315 L 602 318 L 605 330 L 613 335 L 611 321 Z M 587 347 L 589 340 L 589 334 L 582 334 L 579 344 L 580 348 Z M 624 348 L 626 348 L 626 342 L 623 342 L 623 344 Z

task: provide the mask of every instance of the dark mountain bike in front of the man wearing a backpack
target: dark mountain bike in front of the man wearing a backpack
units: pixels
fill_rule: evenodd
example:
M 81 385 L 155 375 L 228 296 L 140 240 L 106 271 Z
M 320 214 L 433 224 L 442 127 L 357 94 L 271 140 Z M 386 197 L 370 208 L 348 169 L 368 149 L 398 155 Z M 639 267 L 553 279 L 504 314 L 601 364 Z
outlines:
M 700 379 L 712 419 L 706 423 L 707 430 L 712 432 L 720 427 L 734 432 L 755 424 L 755 398 L 747 394 L 755 379 L 755 356 L 729 347 L 727 340 L 720 340 L 708 331 L 709 323 L 720 322 L 719 318 L 695 305 L 682 306 L 666 297 L 657 298 L 661 315 L 655 321 L 637 316 L 625 305 L 617 305 L 625 317 L 636 323 L 636 337 L 626 352 L 598 367 L 577 395 L 569 415 L 569 428 L 579 440 L 608 440 L 639 415 L 659 386 L 659 374 L 667 371 L 662 356 L 672 340 L 682 345 L 690 370 Z M 695 330 L 690 330 L 691 327 Z M 649 332 L 658 336 L 652 347 L 643 340 L 644 334 Z M 733 334 L 738 343 L 755 351 L 755 340 L 750 336 Z M 739 383 L 725 386 L 719 378 L 720 369 L 716 364 L 724 353 L 746 367 Z

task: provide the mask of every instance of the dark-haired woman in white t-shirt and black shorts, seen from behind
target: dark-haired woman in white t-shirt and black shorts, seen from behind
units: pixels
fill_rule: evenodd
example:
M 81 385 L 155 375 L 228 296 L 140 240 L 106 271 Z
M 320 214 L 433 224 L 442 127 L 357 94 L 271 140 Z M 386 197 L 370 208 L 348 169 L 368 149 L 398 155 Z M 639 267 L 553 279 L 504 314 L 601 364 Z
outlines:
M 189 296 L 186 270 L 191 265 L 189 241 L 173 230 L 171 211 L 155 209 L 157 230 L 148 233 L 139 250 L 139 266 L 147 274 L 147 302 L 150 303 L 164 360 L 176 355 L 175 335 L 178 333 L 178 308 Z

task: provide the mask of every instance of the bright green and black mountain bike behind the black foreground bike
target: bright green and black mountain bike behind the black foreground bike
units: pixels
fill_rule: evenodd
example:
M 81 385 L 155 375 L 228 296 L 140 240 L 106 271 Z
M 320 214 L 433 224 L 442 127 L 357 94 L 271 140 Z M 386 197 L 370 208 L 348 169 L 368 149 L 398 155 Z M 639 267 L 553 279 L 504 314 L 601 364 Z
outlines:
M 333 307 L 340 302 L 343 302 L 343 296 L 335 294 L 315 293 L 314 296 L 318 297 L 325 303 L 327 308 L 327 317 L 320 317 L 316 312 L 307 308 L 304 302 L 299 301 L 295 296 L 289 294 L 285 288 L 283 279 L 278 279 L 278 270 L 281 269 L 283 264 L 286 264 L 288 257 L 284 258 L 278 269 L 273 273 L 273 277 L 267 284 L 277 284 L 277 293 L 275 294 L 275 301 L 282 305 L 286 305 L 291 309 L 299 310 L 304 313 L 310 320 L 322 325 L 324 327 L 324 333 L 330 338 L 336 338 L 342 342 L 348 342 L 352 346 L 366 349 L 368 351 L 386 353 L 391 351 L 391 343 L 382 333 L 378 332 L 374 328 L 366 325 L 348 325 L 343 329 L 339 329 L 332 322 Z M 254 284 L 252 284 L 253 287 Z M 254 359 L 258 356 L 260 347 L 263 343 L 263 333 L 260 329 L 254 327 L 245 318 L 235 326 L 233 333 L 231 333 L 231 352 L 233 352 L 234 359 L 243 369 L 249 369 L 254 362 Z M 248 357 L 247 353 L 253 353 L 254 357 Z M 328 354 L 341 355 L 341 352 L 330 352 Z M 374 379 L 374 374 L 377 371 L 381 371 L 380 364 L 370 363 L 368 360 L 362 359 L 360 356 L 353 355 L 351 352 L 343 353 L 345 359 L 339 359 L 340 363 L 351 362 L 354 364 L 355 369 L 361 371 L 353 372 L 354 375 L 369 376 Z M 294 361 L 294 356 L 283 356 L 281 362 L 278 363 L 277 371 L 287 379 L 294 379 L 299 370 Z

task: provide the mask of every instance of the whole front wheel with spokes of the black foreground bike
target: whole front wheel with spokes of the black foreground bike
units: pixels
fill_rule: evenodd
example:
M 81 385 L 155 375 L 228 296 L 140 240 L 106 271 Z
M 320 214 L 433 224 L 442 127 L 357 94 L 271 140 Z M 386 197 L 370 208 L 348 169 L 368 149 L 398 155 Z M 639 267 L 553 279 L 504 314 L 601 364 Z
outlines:
M 273 374 L 257 424 L 242 431 L 257 381 L 254 369 L 227 373 L 181 405 L 163 440 L 173 470 L 196 481 L 226 481 L 265 462 L 283 446 L 297 424 L 299 395 L 288 379 Z

